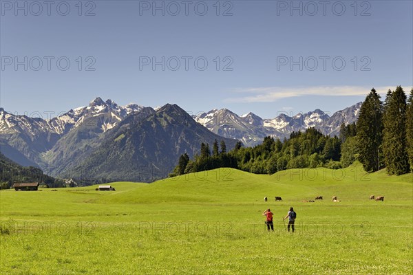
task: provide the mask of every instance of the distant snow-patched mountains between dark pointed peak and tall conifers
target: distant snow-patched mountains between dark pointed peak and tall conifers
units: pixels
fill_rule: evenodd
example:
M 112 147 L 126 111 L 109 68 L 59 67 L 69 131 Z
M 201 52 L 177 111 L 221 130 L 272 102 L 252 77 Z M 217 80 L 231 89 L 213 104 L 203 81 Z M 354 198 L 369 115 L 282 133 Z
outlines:
M 339 135 L 341 123 L 357 121 L 361 103 L 337 111 L 331 116 L 316 109 L 292 116 L 280 113 L 276 118 L 262 119 L 251 112 L 237 115 L 228 109 L 213 109 L 208 113 L 194 115 L 193 118 L 213 133 L 241 140 L 246 146 L 255 146 L 266 136 L 283 139 L 289 137 L 293 131 L 305 131 L 309 127 L 315 127 L 324 135 Z

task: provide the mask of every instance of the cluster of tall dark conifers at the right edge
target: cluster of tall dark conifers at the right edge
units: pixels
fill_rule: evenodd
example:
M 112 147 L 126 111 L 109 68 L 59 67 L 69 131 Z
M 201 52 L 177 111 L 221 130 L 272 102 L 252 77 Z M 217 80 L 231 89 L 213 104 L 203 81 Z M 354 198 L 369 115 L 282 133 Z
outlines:
M 361 105 L 357 120 L 359 161 L 366 171 L 386 168 L 389 175 L 413 170 L 413 89 L 388 91 L 381 102 L 375 89 Z

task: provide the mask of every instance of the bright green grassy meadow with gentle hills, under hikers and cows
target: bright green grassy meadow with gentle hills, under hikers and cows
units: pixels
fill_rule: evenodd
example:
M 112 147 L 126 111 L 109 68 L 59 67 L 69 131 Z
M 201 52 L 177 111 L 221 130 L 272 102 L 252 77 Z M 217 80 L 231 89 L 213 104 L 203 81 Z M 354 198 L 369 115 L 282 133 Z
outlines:
M 220 168 L 111 185 L 1 190 L 0 274 L 412 274 L 412 174 Z

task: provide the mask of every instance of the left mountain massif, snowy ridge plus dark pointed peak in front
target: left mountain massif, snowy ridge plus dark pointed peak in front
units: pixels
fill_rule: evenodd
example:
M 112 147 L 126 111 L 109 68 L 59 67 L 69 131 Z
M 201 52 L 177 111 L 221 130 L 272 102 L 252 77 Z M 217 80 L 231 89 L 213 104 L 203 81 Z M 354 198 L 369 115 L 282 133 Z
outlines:
M 153 181 L 167 177 L 178 157 L 193 157 L 202 142 L 220 137 L 176 104 L 155 111 L 96 98 L 87 107 L 43 120 L 0 109 L 0 151 L 47 175 L 76 179 Z

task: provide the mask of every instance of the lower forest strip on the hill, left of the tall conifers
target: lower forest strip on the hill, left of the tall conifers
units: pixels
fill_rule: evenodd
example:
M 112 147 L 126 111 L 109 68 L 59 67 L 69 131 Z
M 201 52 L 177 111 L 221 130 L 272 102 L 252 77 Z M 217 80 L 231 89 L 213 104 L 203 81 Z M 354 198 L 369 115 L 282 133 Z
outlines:
M 343 126 L 343 129 L 347 131 L 348 127 Z M 343 136 L 346 135 L 350 133 L 343 133 Z M 218 148 L 218 141 L 215 140 L 211 153 L 209 144 L 202 143 L 200 155 L 195 155 L 193 160 L 184 153 L 170 176 L 220 167 L 237 168 L 257 174 L 273 174 L 289 168 L 341 168 L 339 137 L 323 135 L 314 128 L 307 129 L 304 133 L 293 132 L 289 139 L 283 141 L 265 137 L 262 144 L 255 147 L 242 147 L 241 142 L 238 142 L 228 153 L 223 141 L 220 145 L 221 150 Z

